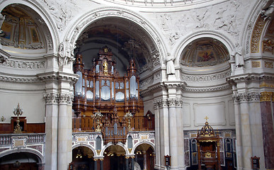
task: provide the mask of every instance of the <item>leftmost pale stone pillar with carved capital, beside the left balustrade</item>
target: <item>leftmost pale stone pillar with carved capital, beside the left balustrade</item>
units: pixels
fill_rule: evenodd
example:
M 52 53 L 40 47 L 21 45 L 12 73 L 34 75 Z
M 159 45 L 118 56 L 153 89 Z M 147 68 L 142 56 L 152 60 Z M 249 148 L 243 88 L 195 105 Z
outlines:
M 58 129 L 58 98 L 57 94 L 45 95 L 45 169 L 57 169 L 57 129 Z

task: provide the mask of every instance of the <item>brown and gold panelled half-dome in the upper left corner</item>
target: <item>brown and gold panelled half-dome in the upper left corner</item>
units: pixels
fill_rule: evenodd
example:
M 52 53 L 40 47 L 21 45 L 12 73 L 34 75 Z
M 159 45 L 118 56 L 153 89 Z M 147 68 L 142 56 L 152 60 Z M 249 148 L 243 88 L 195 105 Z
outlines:
M 45 38 L 38 26 L 42 19 L 32 9 L 22 5 L 7 6 L 1 11 L 5 16 L 1 30 L 1 45 L 20 49 L 38 50 L 45 48 Z

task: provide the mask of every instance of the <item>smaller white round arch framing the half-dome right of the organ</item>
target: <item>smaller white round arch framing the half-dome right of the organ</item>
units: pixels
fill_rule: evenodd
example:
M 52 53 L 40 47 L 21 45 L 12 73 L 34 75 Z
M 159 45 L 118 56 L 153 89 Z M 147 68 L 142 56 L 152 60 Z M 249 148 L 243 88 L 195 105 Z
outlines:
M 178 47 L 174 48 L 175 50 L 172 51 L 172 54 L 176 56 L 175 64 L 180 64 L 181 52 L 183 52 L 185 47 L 187 47 L 187 45 L 190 44 L 190 42 L 198 40 L 199 38 L 213 38 L 219 40 L 224 44 L 225 47 L 227 47 L 229 54 L 232 53 L 236 42 L 236 40 L 234 40 L 234 38 L 232 38 L 230 35 L 224 35 L 222 33 L 219 33 L 218 31 L 202 30 L 195 33 L 191 33 L 180 43 Z

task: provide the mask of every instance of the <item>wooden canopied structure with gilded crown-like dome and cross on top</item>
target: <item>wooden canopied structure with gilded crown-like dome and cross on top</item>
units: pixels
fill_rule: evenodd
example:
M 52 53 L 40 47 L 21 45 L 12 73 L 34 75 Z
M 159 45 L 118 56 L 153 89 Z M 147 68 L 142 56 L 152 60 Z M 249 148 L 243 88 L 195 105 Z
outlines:
M 214 132 L 207 121 L 200 132 L 198 131 L 196 140 L 198 146 L 198 169 L 201 170 L 202 164 L 204 164 L 205 169 L 220 170 L 219 135 Z

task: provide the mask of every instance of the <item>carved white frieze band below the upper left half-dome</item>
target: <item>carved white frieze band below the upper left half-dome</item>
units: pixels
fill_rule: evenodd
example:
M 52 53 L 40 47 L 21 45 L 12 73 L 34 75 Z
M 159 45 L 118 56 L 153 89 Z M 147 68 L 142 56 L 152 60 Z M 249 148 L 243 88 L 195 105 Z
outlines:
M 5 62 L 0 63 L 0 65 L 17 69 L 45 69 L 46 62 L 21 62 L 16 60 L 6 60 Z

